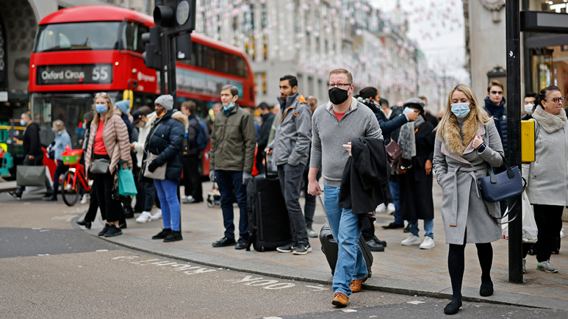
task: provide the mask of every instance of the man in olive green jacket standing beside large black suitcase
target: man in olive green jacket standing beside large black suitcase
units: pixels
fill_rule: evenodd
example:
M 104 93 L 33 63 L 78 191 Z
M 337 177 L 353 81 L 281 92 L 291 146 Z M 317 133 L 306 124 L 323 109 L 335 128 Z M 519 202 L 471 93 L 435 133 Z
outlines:
M 236 86 L 222 87 L 223 108 L 215 115 L 211 132 L 209 178 L 219 187 L 225 226 L 224 237 L 214 242 L 213 247 L 236 243 L 235 249 L 245 249 L 249 243 L 247 184 L 252 179 L 256 136 L 252 115 L 237 104 L 237 99 L 239 89 Z M 233 189 L 240 211 L 238 242 L 233 224 Z

